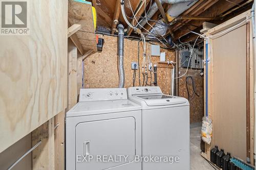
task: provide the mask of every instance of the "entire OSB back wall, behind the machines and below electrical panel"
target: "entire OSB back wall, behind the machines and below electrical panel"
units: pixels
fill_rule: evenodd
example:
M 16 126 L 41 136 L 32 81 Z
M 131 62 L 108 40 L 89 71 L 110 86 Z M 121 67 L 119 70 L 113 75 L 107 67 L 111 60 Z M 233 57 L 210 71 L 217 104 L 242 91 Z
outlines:
M 117 37 L 102 36 L 105 40 L 103 51 L 95 53 L 84 60 L 84 81 L 86 88 L 114 88 L 118 87 L 118 68 L 117 68 Z M 133 86 L 133 70 L 131 62 L 138 61 L 138 41 L 125 39 L 124 41 L 124 71 L 125 87 Z M 148 45 L 150 48 L 150 45 Z M 150 50 L 150 49 L 149 49 Z M 150 51 L 149 51 L 150 52 Z M 175 61 L 173 51 L 161 49 L 166 52 L 166 60 Z M 142 64 L 142 46 L 140 43 L 140 64 Z M 153 64 L 159 62 L 159 57 L 152 57 Z M 170 76 L 171 69 L 167 64 L 158 64 L 158 85 L 165 94 L 170 93 Z M 185 71 L 180 70 L 183 75 Z M 204 114 L 204 94 L 203 94 L 203 77 L 200 76 L 200 70 L 188 70 L 189 76 L 194 76 L 197 90 L 200 96 L 190 101 L 190 122 L 201 122 Z M 138 86 L 138 70 L 135 85 Z M 142 77 L 142 76 L 141 76 Z M 141 79 L 142 80 L 142 79 Z M 153 75 L 154 81 L 154 75 Z M 180 96 L 187 98 L 185 77 L 180 79 Z

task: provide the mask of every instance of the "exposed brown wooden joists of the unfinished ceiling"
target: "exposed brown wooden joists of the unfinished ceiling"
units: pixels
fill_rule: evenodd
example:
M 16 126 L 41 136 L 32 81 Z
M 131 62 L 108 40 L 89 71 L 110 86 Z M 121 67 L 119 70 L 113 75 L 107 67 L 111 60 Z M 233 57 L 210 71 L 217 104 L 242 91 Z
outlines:
M 119 0 L 117 0 L 119 1 Z M 149 8 L 151 1 L 154 3 L 154 0 L 130 0 L 131 6 L 133 8 L 133 11 L 137 11 L 140 4 L 144 3 L 146 1 L 147 7 Z M 127 18 L 132 21 L 132 11 L 130 9 L 129 0 L 125 0 L 125 12 L 127 15 Z M 203 16 L 203 17 L 221 17 L 219 20 L 210 20 L 210 19 L 182 19 L 177 22 L 175 22 L 173 25 L 168 26 L 168 31 L 165 36 L 169 35 L 170 33 L 173 33 L 173 37 L 175 40 L 177 40 L 179 37 L 187 34 L 190 31 L 196 31 L 200 33 L 200 30 L 202 29 L 202 24 L 204 21 L 212 22 L 220 24 L 227 19 L 230 19 L 231 17 L 234 17 L 236 15 L 239 15 L 240 13 L 248 10 L 252 6 L 252 0 L 199 0 L 197 3 L 195 3 L 193 6 L 191 6 L 188 10 L 183 12 L 180 16 Z M 98 30 L 101 31 L 101 29 L 106 30 L 112 30 L 112 23 L 114 21 L 114 16 L 116 15 L 115 8 L 116 7 L 116 0 L 93 0 L 93 5 L 95 6 L 95 3 L 97 4 L 97 26 Z M 171 5 L 164 4 L 163 8 L 166 12 Z M 118 11 L 118 10 L 117 10 Z M 120 10 L 119 10 L 120 11 Z M 117 14 L 118 16 L 118 14 Z M 140 17 L 144 16 L 144 7 L 143 11 L 138 12 L 136 15 L 136 18 L 139 19 Z M 162 16 L 160 14 L 160 11 L 151 18 L 152 20 L 158 20 L 161 19 Z M 125 23 L 122 13 L 120 12 L 119 23 L 123 23 L 125 28 L 129 29 L 127 24 Z M 156 21 L 148 21 L 150 25 L 154 26 L 156 24 Z M 136 21 L 135 21 L 136 23 Z M 149 25 L 145 25 L 144 28 L 147 30 L 150 30 L 151 27 Z M 135 33 L 128 32 L 128 34 L 133 34 L 136 36 Z M 186 35 L 182 37 L 186 40 L 191 40 L 195 38 L 195 35 Z

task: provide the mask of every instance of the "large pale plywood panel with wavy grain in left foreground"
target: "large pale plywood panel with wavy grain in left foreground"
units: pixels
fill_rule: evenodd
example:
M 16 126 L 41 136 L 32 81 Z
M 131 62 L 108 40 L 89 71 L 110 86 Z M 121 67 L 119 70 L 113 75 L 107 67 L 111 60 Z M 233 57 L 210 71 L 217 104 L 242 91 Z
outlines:
M 30 34 L 0 36 L 0 153 L 67 106 L 67 1 L 28 2 Z

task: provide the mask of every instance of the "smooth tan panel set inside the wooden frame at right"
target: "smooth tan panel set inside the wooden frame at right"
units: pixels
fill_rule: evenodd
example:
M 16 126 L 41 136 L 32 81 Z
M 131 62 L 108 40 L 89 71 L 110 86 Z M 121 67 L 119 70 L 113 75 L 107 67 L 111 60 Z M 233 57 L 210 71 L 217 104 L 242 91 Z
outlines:
M 214 39 L 212 47 L 215 144 L 246 160 L 246 26 Z

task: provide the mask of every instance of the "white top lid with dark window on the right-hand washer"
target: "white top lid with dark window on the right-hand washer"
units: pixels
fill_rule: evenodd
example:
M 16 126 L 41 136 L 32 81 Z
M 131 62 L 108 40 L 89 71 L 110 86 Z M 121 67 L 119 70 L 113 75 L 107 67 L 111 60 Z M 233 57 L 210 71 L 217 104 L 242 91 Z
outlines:
M 137 98 L 144 100 L 147 106 L 166 106 L 185 104 L 187 100 L 172 95 L 156 94 L 156 95 L 136 95 Z

